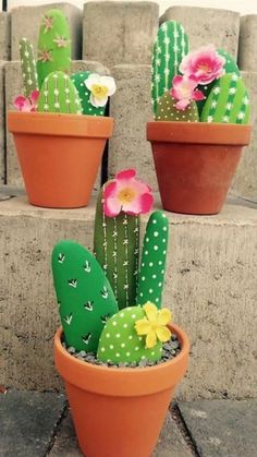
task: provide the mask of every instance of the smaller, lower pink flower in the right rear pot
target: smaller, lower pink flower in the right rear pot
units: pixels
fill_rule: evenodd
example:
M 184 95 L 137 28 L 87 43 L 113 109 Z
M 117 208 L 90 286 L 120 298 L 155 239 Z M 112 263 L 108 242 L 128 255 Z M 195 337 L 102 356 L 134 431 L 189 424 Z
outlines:
M 197 85 L 198 80 L 194 75 L 188 77 L 176 75 L 173 77 L 170 94 L 179 100 L 175 104 L 176 109 L 184 110 L 192 100 L 204 100 L 205 95 L 196 88 Z

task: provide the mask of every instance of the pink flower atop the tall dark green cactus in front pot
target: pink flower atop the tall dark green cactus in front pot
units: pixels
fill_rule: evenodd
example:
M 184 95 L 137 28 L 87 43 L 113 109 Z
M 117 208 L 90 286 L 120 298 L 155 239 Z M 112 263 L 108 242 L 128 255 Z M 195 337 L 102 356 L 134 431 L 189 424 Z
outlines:
M 115 217 L 121 212 L 130 215 L 148 213 L 154 203 L 150 188 L 135 179 L 134 169 L 123 170 L 105 188 L 105 214 Z

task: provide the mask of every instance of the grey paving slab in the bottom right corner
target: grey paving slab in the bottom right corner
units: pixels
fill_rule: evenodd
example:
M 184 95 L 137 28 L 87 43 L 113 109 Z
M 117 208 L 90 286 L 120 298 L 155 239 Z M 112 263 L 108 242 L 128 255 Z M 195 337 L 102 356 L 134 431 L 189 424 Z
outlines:
M 257 455 L 257 399 L 197 400 L 179 408 L 200 456 Z

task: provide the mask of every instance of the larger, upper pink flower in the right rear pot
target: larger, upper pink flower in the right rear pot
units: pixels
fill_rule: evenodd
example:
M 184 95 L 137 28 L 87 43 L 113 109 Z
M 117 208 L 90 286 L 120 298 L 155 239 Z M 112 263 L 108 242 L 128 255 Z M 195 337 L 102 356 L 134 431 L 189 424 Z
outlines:
M 224 74 L 224 57 L 219 56 L 213 45 L 208 45 L 185 56 L 180 72 L 196 76 L 198 84 L 209 84 Z

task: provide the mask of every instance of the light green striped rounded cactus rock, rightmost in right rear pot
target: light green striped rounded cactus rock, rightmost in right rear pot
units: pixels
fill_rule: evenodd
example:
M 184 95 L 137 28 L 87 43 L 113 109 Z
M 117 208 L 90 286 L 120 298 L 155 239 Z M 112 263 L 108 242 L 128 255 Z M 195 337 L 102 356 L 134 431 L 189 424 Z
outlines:
M 203 109 L 200 122 L 249 122 L 249 97 L 237 74 L 228 73 L 217 81 Z

